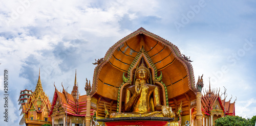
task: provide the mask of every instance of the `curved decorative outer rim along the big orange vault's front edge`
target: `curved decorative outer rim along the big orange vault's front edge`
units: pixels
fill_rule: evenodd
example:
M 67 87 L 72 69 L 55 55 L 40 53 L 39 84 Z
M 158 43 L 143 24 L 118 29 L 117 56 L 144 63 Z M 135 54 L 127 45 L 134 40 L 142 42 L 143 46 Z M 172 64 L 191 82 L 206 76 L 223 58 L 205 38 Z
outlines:
M 122 38 L 121 40 L 117 41 L 113 46 L 111 46 L 108 50 L 108 52 L 106 52 L 103 61 L 98 64 L 95 69 L 94 69 L 94 74 L 93 74 L 93 81 L 92 81 L 92 86 L 94 87 L 90 93 L 90 95 L 94 95 L 97 90 L 98 90 L 98 78 L 99 78 L 99 73 L 102 69 L 102 67 L 108 63 L 108 61 L 111 59 L 113 53 L 115 52 L 115 50 L 124 42 L 126 42 L 127 40 L 139 35 L 139 34 L 143 34 L 145 36 L 151 37 L 157 41 L 159 41 L 160 43 L 167 45 L 167 47 L 170 49 L 170 51 L 172 51 L 172 54 L 174 55 L 174 57 L 180 61 L 182 63 L 182 65 L 185 67 L 186 72 L 187 72 L 187 79 L 188 79 L 188 87 L 190 90 L 194 91 L 195 93 L 198 91 L 196 86 L 195 86 L 195 77 L 194 77 L 194 70 L 193 67 L 191 65 L 190 62 L 186 61 L 185 59 L 182 58 L 181 52 L 179 50 L 179 48 L 174 45 L 173 43 L 170 43 L 169 41 L 163 39 L 162 37 L 155 35 L 151 32 L 146 31 L 144 28 L 139 28 L 138 30 L 136 30 L 135 32 L 125 36 L 124 38 Z

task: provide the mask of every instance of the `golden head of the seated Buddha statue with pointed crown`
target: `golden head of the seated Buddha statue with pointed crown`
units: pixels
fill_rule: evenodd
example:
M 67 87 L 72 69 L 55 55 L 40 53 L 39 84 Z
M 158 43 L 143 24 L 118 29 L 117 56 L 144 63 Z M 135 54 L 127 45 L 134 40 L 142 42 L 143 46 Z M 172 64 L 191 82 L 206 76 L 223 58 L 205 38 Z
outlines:
M 150 77 L 150 73 L 147 67 L 144 66 L 144 63 L 142 62 L 140 67 L 136 69 L 135 71 L 136 79 L 140 80 L 147 80 L 148 77 Z

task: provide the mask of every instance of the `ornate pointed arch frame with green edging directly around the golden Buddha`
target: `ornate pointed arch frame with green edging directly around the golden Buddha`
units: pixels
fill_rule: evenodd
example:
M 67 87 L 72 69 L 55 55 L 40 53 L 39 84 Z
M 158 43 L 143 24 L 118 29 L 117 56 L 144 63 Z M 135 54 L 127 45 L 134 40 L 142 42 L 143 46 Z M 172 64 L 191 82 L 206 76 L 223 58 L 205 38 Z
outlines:
M 145 63 L 147 66 L 144 66 L 144 60 L 145 60 Z M 142 61 L 141 61 L 142 60 Z M 140 64 L 141 62 L 141 64 Z M 165 100 L 165 106 L 168 106 L 168 93 L 167 93 L 167 89 L 166 89 L 166 86 L 165 84 L 161 81 L 162 80 L 162 72 L 161 74 L 157 75 L 157 68 L 156 66 L 154 65 L 154 63 L 152 62 L 150 56 L 148 56 L 148 54 L 146 53 L 144 47 L 142 46 L 142 48 L 140 49 L 139 53 L 137 54 L 137 56 L 135 57 L 134 61 L 132 62 L 132 64 L 130 65 L 129 69 L 127 70 L 127 78 L 124 76 L 124 73 L 123 72 L 123 83 L 120 85 L 120 87 L 118 88 L 118 96 L 117 96 L 117 112 L 119 112 L 119 109 L 121 109 L 121 105 L 119 104 L 120 103 L 120 92 L 122 92 L 121 90 L 123 89 L 122 86 L 124 84 L 127 84 L 127 83 L 132 83 L 132 77 L 133 77 L 133 70 L 134 69 L 137 69 L 138 67 L 140 67 L 139 65 L 143 65 L 144 67 L 148 67 L 147 69 L 151 69 L 152 70 L 152 80 L 153 80 L 153 83 L 152 84 L 158 84 L 160 85 L 162 88 L 163 88 L 163 96 L 164 97 L 164 100 Z M 148 71 L 148 74 L 151 74 L 150 70 Z

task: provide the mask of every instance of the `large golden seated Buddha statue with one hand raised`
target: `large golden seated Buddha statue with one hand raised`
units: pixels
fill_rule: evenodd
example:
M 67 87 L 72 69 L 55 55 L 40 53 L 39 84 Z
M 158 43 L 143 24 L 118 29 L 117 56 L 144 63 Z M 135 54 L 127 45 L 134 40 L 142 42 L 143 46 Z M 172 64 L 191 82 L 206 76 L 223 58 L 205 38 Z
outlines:
M 171 107 L 160 104 L 159 89 L 148 84 L 150 71 L 142 62 L 135 71 L 135 85 L 126 89 L 124 113 L 112 113 L 110 118 L 117 117 L 175 117 Z

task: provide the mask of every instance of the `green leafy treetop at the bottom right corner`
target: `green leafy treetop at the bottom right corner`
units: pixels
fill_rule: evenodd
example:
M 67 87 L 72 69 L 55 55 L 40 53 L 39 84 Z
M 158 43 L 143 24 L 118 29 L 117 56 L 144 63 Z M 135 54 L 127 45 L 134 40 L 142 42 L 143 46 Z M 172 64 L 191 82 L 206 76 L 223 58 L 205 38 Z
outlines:
M 216 126 L 252 126 L 250 120 L 239 116 L 226 116 L 215 120 Z M 253 125 L 254 126 L 254 125 Z

